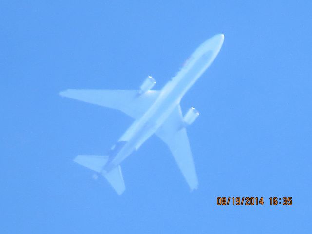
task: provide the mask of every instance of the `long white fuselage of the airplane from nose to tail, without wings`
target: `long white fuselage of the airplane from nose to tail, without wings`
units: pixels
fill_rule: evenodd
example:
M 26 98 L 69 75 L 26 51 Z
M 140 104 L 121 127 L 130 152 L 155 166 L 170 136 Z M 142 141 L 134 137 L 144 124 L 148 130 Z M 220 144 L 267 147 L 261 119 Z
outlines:
M 153 105 L 141 118 L 133 122 L 117 144 L 112 147 L 111 151 L 115 153 L 110 155 L 109 163 L 104 166 L 103 170 L 110 171 L 115 168 L 157 131 L 180 103 L 184 94 L 213 62 L 223 40 L 222 34 L 216 35 L 195 50 L 176 76 L 162 88 Z

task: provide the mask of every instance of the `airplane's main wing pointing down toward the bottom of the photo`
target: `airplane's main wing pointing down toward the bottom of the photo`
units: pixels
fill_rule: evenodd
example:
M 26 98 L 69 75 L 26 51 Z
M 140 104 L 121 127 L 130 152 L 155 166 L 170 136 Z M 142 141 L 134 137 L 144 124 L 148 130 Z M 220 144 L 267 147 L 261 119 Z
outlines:
M 176 106 L 156 135 L 168 145 L 191 190 L 196 189 L 197 175 L 180 105 Z

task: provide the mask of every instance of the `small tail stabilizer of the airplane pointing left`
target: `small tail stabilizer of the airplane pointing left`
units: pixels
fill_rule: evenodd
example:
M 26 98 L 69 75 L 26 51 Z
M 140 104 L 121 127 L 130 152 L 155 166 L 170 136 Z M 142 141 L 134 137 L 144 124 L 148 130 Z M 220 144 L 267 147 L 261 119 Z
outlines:
M 108 156 L 98 155 L 78 155 L 74 159 L 74 162 L 96 172 L 101 172 L 107 161 Z

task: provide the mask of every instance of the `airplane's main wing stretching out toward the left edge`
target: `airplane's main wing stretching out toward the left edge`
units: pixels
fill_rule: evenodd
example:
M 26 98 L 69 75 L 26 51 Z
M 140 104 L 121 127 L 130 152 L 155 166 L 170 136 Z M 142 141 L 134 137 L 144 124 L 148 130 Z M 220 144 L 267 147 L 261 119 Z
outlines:
M 117 109 L 135 119 L 141 117 L 155 102 L 160 91 L 68 89 L 61 96 Z

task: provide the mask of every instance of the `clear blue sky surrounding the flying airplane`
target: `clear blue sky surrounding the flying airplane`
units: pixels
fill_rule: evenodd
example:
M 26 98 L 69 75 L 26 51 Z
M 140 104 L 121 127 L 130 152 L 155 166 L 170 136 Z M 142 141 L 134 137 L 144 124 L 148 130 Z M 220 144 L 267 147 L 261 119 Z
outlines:
M 311 233 L 312 3 L 1 1 L 0 233 Z M 182 99 L 190 193 L 151 137 L 122 164 L 122 196 L 75 164 L 102 155 L 130 117 L 62 98 L 68 88 L 162 86 L 211 36 L 212 66 Z M 263 206 L 216 198 L 264 197 Z M 292 197 L 270 206 L 269 197 Z

